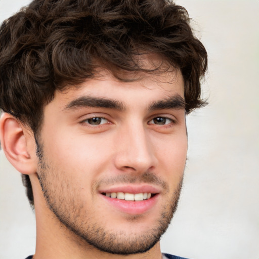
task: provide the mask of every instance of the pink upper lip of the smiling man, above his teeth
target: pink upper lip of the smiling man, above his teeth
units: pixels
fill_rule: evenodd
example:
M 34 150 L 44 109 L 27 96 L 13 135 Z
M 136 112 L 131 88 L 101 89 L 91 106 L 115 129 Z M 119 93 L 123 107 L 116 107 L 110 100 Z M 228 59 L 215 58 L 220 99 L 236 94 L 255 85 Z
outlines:
M 124 193 L 160 193 L 160 190 L 152 185 L 117 185 L 117 186 L 111 186 L 107 188 L 100 188 L 99 189 L 100 193 L 112 193 L 112 192 L 124 192 Z

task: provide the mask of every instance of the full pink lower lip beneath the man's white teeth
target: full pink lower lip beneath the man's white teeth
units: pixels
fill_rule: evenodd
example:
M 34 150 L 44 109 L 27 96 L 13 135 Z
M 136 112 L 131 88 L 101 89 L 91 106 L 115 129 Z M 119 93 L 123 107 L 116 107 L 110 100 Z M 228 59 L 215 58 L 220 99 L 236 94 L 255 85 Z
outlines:
M 109 204 L 116 207 L 118 210 L 128 213 L 139 215 L 147 212 L 148 210 L 152 209 L 158 199 L 159 194 L 156 194 L 152 198 L 148 200 L 142 201 L 127 201 L 127 200 L 120 200 L 117 198 L 110 198 L 103 194 L 100 194 Z

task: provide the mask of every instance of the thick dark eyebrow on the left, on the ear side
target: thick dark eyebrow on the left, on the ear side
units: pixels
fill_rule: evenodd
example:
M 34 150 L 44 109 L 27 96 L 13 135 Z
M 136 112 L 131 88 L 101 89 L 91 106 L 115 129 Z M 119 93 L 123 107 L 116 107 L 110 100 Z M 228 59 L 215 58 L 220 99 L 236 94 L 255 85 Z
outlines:
M 106 98 L 96 98 L 91 96 L 83 96 L 79 97 L 70 103 L 68 103 L 64 110 L 77 109 L 80 107 L 100 107 L 100 108 L 108 108 L 108 109 L 116 109 L 119 111 L 125 110 L 125 106 L 117 101 Z

